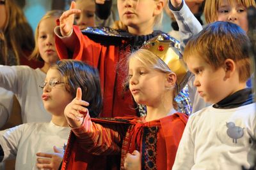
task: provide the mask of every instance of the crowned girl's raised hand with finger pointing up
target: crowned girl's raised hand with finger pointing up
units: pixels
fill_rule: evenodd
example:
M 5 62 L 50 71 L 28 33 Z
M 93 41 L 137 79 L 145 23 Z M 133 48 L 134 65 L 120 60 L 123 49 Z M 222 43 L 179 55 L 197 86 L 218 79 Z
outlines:
M 88 109 L 84 106 L 89 106 L 89 103 L 82 101 L 82 90 L 77 88 L 76 98 L 64 110 L 64 115 L 71 127 L 79 127 L 83 123 L 84 114 L 88 113 Z

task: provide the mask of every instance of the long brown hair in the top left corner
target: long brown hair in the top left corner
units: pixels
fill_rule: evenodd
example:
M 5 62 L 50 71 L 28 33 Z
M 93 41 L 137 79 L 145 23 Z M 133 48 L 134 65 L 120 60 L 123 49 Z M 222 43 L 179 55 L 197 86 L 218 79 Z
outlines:
M 31 52 L 35 46 L 33 30 L 15 1 L 5 1 L 4 6 L 7 19 L 1 32 L 3 62 L 8 64 L 8 50 L 12 50 L 17 64 L 20 64 L 20 57 L 27 57 L 26 52 Z

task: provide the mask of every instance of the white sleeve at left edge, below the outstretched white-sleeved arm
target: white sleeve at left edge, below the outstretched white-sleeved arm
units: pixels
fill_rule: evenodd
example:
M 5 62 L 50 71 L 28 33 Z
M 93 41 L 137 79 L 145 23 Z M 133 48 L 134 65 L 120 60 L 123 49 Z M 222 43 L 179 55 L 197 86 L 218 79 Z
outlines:
M 6 124 L 12 113 L 13 92 L 0 87 L 0 128 Z

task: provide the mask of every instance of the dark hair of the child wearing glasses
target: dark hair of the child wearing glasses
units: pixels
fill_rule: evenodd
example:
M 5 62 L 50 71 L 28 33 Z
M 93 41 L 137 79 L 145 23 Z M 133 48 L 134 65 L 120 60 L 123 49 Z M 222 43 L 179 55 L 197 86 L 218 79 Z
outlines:
M 90 117 L 97 117 L 102 108 L 100 78 L 97 69 L 79 60 L 59 60 L 51 66 L 60 71 L 65 83 L 65 89 L 73 98 L 78 87 L 82 89 L 82 100 L 90 105 L 87 107 Z

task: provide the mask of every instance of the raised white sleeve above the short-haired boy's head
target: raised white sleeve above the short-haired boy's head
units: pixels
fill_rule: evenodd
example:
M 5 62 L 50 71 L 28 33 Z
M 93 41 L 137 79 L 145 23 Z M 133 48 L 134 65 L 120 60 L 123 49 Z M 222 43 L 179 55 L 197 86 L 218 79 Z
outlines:
M 182 1 L 179 9 L 174 8 L 170 0 L 168 0 L 168 6 L 175 17 L 177 24 L 179 25 L 180 50 L 183 53 L 184 48 L 191 36 L 202 31 L 203 27 L 193 15 L 193 13 L 189 10 L 184 0 Z

